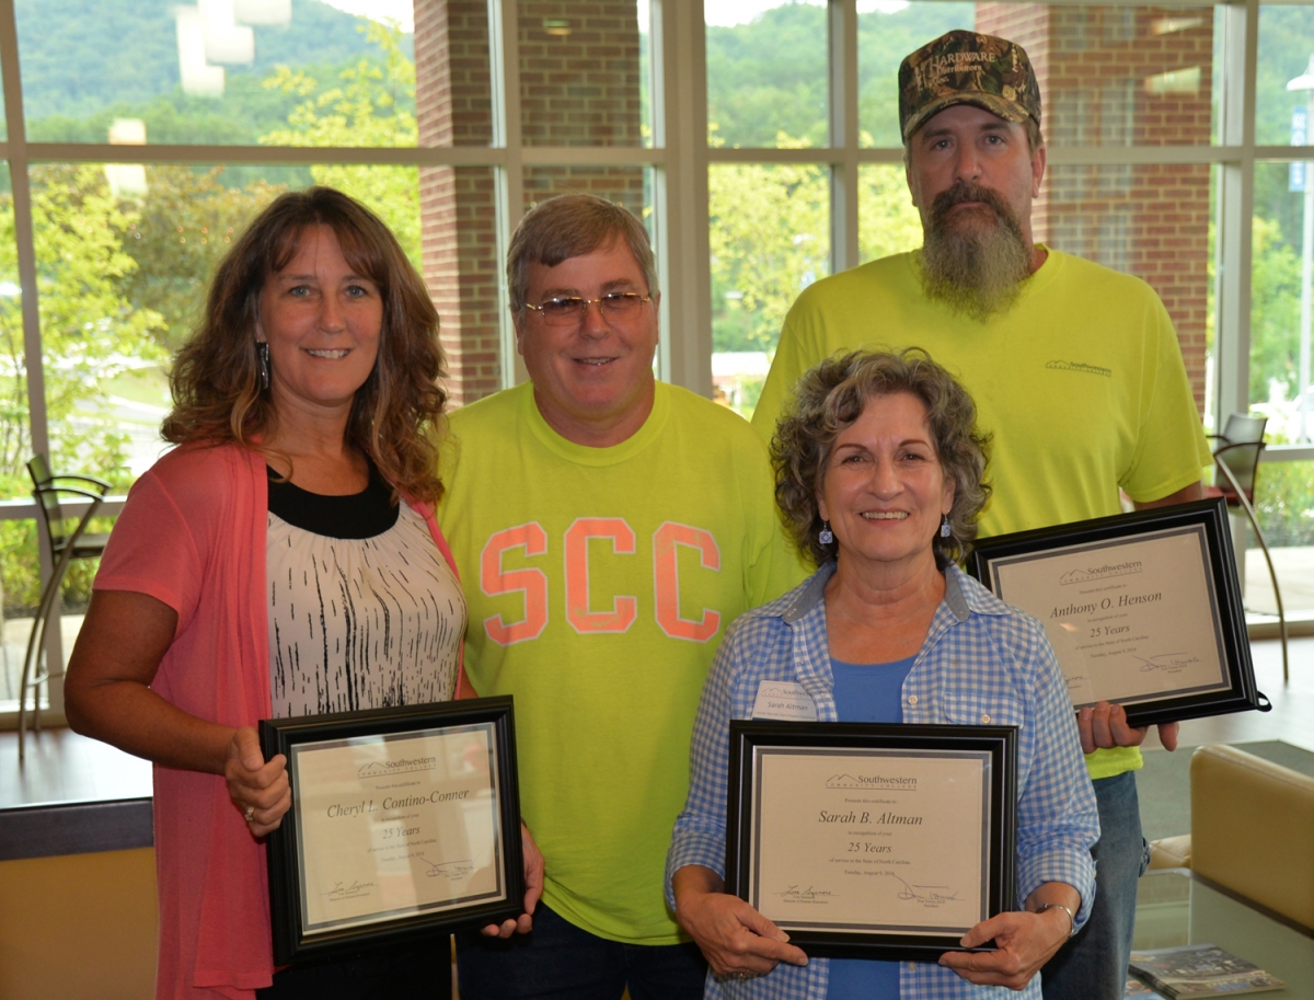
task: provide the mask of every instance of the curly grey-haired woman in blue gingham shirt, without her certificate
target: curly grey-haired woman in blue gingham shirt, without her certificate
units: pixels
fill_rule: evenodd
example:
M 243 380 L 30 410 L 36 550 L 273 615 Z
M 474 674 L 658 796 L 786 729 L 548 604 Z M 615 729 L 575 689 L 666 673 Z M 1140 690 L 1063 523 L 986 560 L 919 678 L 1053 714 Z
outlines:
M 854 352 L 796 388 L 773 442 L 777 501 L 817 572 L 731 627 L 703 690 L 668 895 L 711 963 L 707 996 L 1039 997 L 1035 972 L 1085 922 L 1100 834 L 1067 687 L 1041 624 L 958 569 L 989 497 L 971 397 L 921 351 Z M 1018 727 L 1018 912 L 940 963 L 812 959 L 724 892 L 727 727 L 763 685 L 823 721 Z M 765 703 L 763 703 L 765 704 Z M 807 714 L 807 712 L 804 712 Z M 765 712 L 756 712 L 762 717 Z M 795 716 L 798 717 L 798 716 Z

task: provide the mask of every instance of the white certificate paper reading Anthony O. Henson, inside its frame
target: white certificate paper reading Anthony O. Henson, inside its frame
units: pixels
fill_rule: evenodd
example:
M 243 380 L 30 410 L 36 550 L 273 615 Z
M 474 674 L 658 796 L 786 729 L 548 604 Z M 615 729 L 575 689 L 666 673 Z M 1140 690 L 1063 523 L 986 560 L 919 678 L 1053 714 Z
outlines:
M 1201 524 L 999 558 L 991 574 L 1045 624 L 1076 707 L 1229 687 Z

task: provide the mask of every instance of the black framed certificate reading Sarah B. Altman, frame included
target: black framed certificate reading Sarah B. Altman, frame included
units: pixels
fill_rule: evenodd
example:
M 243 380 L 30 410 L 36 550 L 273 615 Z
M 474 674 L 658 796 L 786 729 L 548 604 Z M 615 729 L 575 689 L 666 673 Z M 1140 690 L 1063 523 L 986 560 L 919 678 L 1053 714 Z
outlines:
M 934 962 L 1013 909 L 1016 795 L 1013 727 L 735 720 L 725 891 L 809 955 Z

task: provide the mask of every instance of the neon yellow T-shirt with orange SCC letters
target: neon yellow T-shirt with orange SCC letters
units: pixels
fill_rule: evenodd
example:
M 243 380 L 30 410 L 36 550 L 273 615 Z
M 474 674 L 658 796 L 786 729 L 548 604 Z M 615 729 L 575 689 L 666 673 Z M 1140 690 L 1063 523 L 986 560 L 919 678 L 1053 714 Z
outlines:
M 766 449 L 664 384 L 612 448 L 556 434 L 528 384 L 451 430 L 438 518 L 469 603 L 465 669 L 515 696 L 544 900 L 600 937 L 675 943 L 662 878 L 703 681 L 731 622 L 803 578 Z

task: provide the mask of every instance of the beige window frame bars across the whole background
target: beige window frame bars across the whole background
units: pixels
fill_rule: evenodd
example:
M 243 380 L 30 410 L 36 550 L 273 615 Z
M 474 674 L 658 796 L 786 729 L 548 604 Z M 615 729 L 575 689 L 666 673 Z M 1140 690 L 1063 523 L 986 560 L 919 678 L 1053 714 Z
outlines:
M 1059 0 L 1064 3 L 1066 0 Z M 1279 3 L 1290 0 L 1279 0 Z M 1118 0 L 1105 0 L 1114 5 Z M 1133 5 L 1133 4 L 1127 4 Z M 1198 4 L 1194 4 L 1198 5 Z M 272 147 L 170 146 L 131 147 L 134 163 L 206 163 L 300 166 L 311 163 L 491 167 L 497 180 L 498 250 L 505 259 L 518 206 L 523 205 L 524 172 L 536 167 L 652 168 L 654 243 L 662 336 L 657 375 L 695 393 L 712 393 L 712 304 L 708 250 L 708 167 L 712 164 L 816 164 L 830 177 L 830 273 L 861 261 L 858 250 L 858 172 L 867 164 L 899 164 L 901 147 L 865 148 L 858 122 L 857 0 L 828 0 L 829 145 L 815 148 L 711 148 L 707 145 L 706 24 L 703 0 L 649 0 L 649 43 L 653 143 L 650 147 L 528 146 L 520 130 L 519 0 L 487 0 L 493 95 L 493 138 L 486 147 Z M 1214 426 L 1250 407 L 1251 225 L 1256 162 L 1314 160 L 1314 148 L 1255 145 L 1255 92 L 1259 0 L 1215 4 L 1223 33 L 1219 96 L 1219 143 L 1212 146 L 1050 146 L 1053 166 L 1210 164 L 1218 170 L 1217 317 L 1214 375 L 1208 389 Z M 637 5 L 639 12 L 644 4 Z M 18 279 L 22 294 L 24 348 L 28 360 L 28 405 L 35 451 L 49 452 L 37 261 L 33 243 L 28 168 L 35 163 L 117 163 L 125 147 L 108 143 L 28 142 L 22 108 L 18 35 L 13 0 L 0 0 L 0 75 L 4 84 L 7 139 L 0 158 L 9 163 Z M 526 378 L 515 351 L 507 289 L 499 280 L 501 385 Z M 1275 445 L 1264 461 L 1309 461 L 1314 445 Z M 118 503 L 106 506 L 114 512 Z M 35 516 L 30 501 L 0 502 L 0 518 Z M 42 578 L 50 572 L 42 560 Z M 51 629 L 50 662 L 62 664 L 59 629 Z M 62 671 L 60 671 L 62 677 Z M 50 686 L 50 715 L 62 715 L 62 690 Z

